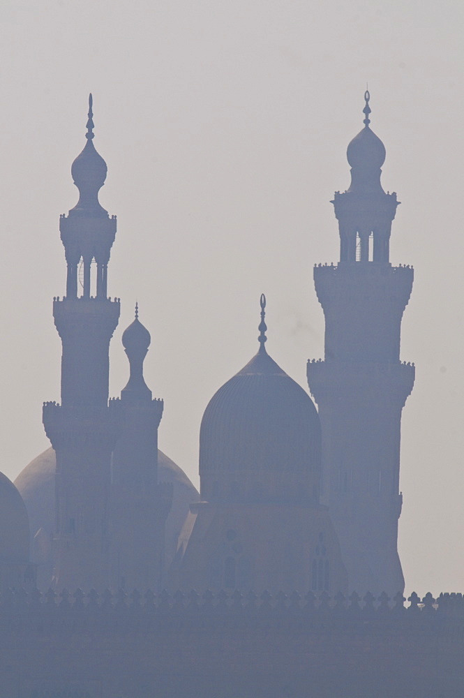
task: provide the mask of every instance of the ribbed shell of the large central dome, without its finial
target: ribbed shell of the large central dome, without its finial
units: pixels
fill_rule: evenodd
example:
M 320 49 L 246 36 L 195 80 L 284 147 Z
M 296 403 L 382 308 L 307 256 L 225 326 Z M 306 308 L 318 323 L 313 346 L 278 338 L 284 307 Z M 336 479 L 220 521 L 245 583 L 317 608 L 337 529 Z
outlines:
M 320 438 L 313 401 L 262 346 L 204 412 L 200 475 L 319 470 Z

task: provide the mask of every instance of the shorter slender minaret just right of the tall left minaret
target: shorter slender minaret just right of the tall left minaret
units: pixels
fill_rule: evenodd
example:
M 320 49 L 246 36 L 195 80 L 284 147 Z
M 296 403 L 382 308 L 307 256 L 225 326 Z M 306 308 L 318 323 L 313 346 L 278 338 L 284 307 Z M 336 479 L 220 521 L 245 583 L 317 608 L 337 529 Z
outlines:
M 151 342 L 138 317 L 122 342 L 130 364 L 121 391 L 124 424 L 112 457 L 110 497 L 112 588 L 157 590 L 163 584 L 165 522 L 172 484 L 158 483 L 158 426 L 163 400 L 151 399 L 143 362 Z

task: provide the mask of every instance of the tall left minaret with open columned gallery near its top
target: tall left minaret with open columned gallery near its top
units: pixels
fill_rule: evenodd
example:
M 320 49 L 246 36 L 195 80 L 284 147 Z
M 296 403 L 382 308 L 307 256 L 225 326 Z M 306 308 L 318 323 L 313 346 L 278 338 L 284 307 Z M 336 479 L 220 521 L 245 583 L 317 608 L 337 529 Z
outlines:
M 68 266 L 66 296 L 53 302 L 63 346 L 61 406 L 43 407 L 45 431 L 57 452 L 58 588 L 103 589 L 108 584 L 110 459 L 118 431 L 115 410 L 108 406 L 108 350 L 119 299 L 107 298 L 116 217 L 110 218 L 98 202 L 107 167 L 93 146 L 92 117 L 90 96 L 87 143 L 71 168 L 80 198 L 59 226 Z

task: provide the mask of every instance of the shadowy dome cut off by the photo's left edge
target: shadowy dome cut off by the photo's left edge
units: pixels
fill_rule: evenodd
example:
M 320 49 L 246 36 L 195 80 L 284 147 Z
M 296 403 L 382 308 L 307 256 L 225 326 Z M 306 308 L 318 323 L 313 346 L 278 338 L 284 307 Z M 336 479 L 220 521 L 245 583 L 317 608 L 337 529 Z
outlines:
M 20 493 L 0 473 L 0 563 L 29 562 L 29 519 Z

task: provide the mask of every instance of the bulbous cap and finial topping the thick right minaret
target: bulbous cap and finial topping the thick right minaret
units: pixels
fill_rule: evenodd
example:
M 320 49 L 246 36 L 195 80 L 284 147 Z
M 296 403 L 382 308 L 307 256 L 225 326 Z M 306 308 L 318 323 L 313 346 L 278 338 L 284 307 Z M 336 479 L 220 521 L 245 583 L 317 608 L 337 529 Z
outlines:
M 380 138 L 371 130 L 369 124 L 369 100 L 371 96 L 366 90 L 364 99 L 364 128 L 354 136 L 353 140 L 347 147 L 347 161 L 350 163 L 351 170 L 351 185 L 348 191 L 357 193 L 371 193 L 373 191 L 383 192 L 380 184 L 380 175 L 382 174 L 382 165 L 385 161 L 387 152 Z

